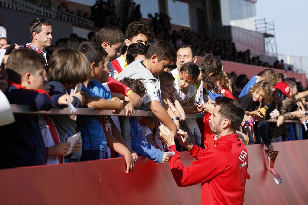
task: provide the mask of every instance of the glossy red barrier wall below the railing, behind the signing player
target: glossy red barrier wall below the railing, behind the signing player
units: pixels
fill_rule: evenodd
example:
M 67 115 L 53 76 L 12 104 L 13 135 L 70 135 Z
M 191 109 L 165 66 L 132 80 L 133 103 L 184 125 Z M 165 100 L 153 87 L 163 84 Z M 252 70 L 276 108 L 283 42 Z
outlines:
M 308 203 L 308 140 L 274 143 L 276 185 L 262 144 L 249 145 L 244 204 Z M 181 153 L 184 164 L 194 159 Z M 200 204 L 201 186 L 177 187 L 168 164 L 140 157 L 125 173 L 123 158 L 0 170 L 0 204 Z

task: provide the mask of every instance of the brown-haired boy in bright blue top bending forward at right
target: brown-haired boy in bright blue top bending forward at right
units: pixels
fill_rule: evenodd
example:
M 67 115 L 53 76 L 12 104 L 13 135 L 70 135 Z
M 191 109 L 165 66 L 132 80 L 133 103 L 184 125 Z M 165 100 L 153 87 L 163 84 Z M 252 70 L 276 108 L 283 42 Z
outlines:
M 242 89 L 239 97 L 247 94 L 249 89 L 259 81 L 266 81 L 270 84 L 271 88 L 273 88 L 277 83 L 277 75 L 272 69 L 265 69 L 258 76 L 253 76 L 250 78 L 249 82 Z

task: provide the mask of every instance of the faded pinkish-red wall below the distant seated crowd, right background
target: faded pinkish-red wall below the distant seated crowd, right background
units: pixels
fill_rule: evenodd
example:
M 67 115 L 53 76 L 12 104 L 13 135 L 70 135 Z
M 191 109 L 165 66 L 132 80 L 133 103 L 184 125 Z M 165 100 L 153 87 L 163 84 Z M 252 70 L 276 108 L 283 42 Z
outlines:
M 197 65 L 199 65 L 201 59 L 202 59 L 202 57 L 198 56 L 197 61 L 196 61 Z M 247 75 L 247 77 L 249 79 L 253 75 L 257 75 L 258 73 L 260 73 L 262 70 L 268 69 L 268 68 L 261 67 L 261 66 L 247 65 L 247 64 L 243 64 L 243 63 L 234 63 L 234 62 L 231 62 L 231 61 L 221 61 L 221 62 L 222 62 L 222 65 L 224 67 L 224 70 L 227 73 L 231 73 L 231 72 L 234 71 L 235 73 L 237 73 L 237 76 L 239 76 L 240 74 L 245 74 L 245 75 Z M 281 70 L 281 69 L 273 69 L 273 70 L 275 70 L 278 73 L 282 73 L 285 78 L 295 77 L 296 81 L 300 81 L 304 88 L 307 87 L 307 80 L 306 80 L 305 74 L 295 73 L 295 72 L 291 72 L 291 71 L 285 71 L 285 70 Z

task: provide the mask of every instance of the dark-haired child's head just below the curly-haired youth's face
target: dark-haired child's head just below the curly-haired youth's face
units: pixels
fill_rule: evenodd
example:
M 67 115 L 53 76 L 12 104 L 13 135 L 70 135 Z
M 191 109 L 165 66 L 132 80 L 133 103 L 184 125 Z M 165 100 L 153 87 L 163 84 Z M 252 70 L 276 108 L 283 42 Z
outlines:
M 129 45 L 126 54 L 127 65 L 138 59 L 145 59 L 148 47 L 143 43 L 133 43 Z

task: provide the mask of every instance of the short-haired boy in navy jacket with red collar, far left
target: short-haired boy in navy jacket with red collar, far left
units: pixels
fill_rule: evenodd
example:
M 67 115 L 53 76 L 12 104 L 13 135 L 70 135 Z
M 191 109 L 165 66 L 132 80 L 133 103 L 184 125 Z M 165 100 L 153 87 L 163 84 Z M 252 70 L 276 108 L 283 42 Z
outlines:
M 49 110 L 51 99 L 43 86 L 42 55 L 19 49 L 7 60 L 9 85 L 5 92 L 10 104 L 29 105 L 34 111 Z M 46 164 L 46 150 L 37 116 L 14 115 L 15 122 L 1 126 L 0 168 Z

